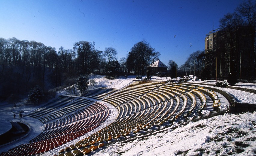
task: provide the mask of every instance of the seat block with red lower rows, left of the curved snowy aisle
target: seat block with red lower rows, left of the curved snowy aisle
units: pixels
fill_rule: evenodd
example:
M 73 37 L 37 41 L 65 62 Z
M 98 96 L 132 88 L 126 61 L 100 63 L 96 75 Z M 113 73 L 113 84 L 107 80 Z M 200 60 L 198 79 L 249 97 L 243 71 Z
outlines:
M 64 97 L 61 96 L 61 98 Z M 57 97 L 57 99 L 59 98 Z M 37 155 L 47 152 L 87 134 L 101 125 L 110 115 L 110 109 L 100 102 L 93 102 L 90 99 L 79 97 L 68 97 L 68 99 L 72 100 L 67 100 L 67 103 L 63 104 L 62 107 L 55 110 L 52 109 L 52 112 L 44 113 L 44 115 L 37 117 L 37 119 L 42 119 L 55 113 L 55 116 L 52 116 L 52 121 L 48 120 L 48 122 L 44 123 L 45 128 L 41 134 L 32 139 L 30 143 L 17 146 L 1 155 Z M 47 104 L 46 107 L 49 107 L 49 105 Z M 71 108 L 73 111 L 68 111 Z M 38 110 L 41 111 L 43 109 L 37 109 L 35 113 Z M 57 113 L 59 115 L 56 115 Z M 34 113 L 31 114 L 33 115 Z M 33 117 L 36 118 L 35 116 Z

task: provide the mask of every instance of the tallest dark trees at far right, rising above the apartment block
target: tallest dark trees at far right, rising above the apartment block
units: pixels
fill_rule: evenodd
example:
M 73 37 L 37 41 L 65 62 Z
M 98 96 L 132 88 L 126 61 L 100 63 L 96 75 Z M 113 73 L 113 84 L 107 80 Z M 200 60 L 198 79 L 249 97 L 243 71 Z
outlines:
M 244 1 L 219 22 L 219 48 L 205 52 L 205 68 L 212 77 L 255 79 L 256 2 Z

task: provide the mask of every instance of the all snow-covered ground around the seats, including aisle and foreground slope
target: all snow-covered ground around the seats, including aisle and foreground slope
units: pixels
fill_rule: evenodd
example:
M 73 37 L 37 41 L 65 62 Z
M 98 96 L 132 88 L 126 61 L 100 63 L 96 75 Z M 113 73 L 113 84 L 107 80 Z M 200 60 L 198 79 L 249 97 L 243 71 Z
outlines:
M 114 80 L 105 79 L 104 76 L 90 76 L 95 80 L 95 87 L 109 87 L 120 89 L 125 85 L 131 83 L 135 76 L 120 77 Z M 151 80 L 169 80 L 168 77 L 152 77 Z M 193 81 L 190 82 L 203 82 Z M 215 84 L 215 82 L 207 82 Z M 206 83 L 206 85 L 207 85 Z M 256 89 L 256 84 L 239 83 L 240 87 Z M 95 88 L 90 86 L 89 89 Z M 255 94 L 238 91 L 229 88 L 218 88 L 232 94 L 237 101 L 243 103 L 256 104 Z M 62 90 L 58 93 L 67 94 L 68 92 Z M 78 92 L 77 92 L 78 94 Z M 107 103 L 105 103 L 107 104 Z M 228 104 L 227 104 L 228 105 Z M 40 105 L 40 107 L 42 104 Z M 79 140 L 89 136 L 90 134 L 105 127 L 116 119 L 117 110 L 110 104 L 111 116 L 100 127 L 94 129 L 87 135 L 79 137 L 72 142 L 69 142 L 59 148 L 53 149 L 44 155 L 57 154 L 59 149 L 74 144 Z M 19 120 L 19 115 L 13 119 L 13 112 L 18 113 L 20 110 L 29 113 L 37 107 L 31 107 L 22 103 L 17 104 L 17 107 L 12 110 L 11 104 L 0 104 L 0 134 L 10 128 L 8 120 Z M 12 112 L 13 111 L 13 112 Z M 41 133 L 43 124 L 35 121 L 30 117 L 21 119 L 30 124 L 32 130 L 29 135 L 17 142 L 7 146 L 0 146 L 0 153 L 6 152 L 8 149 L 20 144 L 28 143 L 29 140 Z M 8 126 L 7 128 L 4 128 Z M 154 135 L 147 137 L 136 137 L 129 142 L 116 142 L 105 146 L 102 150 L 97 150 L 94 155 L 256 155 L 256 112 L 243 114 L 225 114 L 215 116 L 210 119 L 204 119 L 197 122 L 189 122 L 187 124 L 178 124 L 169 128 L 165 128 L 160 132 L 155 132 Z

